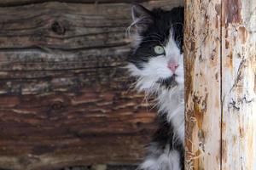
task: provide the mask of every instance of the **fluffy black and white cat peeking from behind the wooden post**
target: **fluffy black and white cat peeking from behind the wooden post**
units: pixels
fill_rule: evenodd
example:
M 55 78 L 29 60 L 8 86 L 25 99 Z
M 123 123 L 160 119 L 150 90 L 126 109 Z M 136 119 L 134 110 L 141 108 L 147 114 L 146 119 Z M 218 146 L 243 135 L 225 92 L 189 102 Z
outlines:
M 135 5 L 132 18 L 137 33 L 127 68 L 137 77 L 139 91 L 155 94 L 159 109 L 159 129 L 138 169 L 180 170 L 184 154 L 183 7 L 150 11 Z

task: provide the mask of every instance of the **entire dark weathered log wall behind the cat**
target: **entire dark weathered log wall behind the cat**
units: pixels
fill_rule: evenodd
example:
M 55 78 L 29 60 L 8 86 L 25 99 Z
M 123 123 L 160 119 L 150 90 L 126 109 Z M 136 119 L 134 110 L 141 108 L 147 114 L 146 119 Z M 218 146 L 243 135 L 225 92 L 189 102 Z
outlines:
M 142 159 L 155 113 L 122 69 L 132 2 L 0 1 L 0 168 Z

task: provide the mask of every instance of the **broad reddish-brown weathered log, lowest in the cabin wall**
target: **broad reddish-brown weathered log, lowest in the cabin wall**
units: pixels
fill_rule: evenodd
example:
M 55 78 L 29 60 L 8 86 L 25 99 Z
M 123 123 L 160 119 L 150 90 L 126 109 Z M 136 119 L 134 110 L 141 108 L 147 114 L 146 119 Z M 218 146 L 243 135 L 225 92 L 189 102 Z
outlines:
M 112 74 L 108 77 L 82 70 L 3 79 L 0 166 L 47 169 L 139 161 L 154 131 L 154 111 L 142 103 L 143 94 L 125 92 L 130 82 L 115 70 L 98 70 Z

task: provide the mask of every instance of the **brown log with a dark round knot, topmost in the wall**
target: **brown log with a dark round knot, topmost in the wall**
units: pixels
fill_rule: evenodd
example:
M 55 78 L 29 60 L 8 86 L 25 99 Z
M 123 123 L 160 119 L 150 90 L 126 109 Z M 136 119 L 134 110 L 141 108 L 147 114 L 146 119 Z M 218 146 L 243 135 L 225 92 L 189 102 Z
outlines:
M 167 1 L 154 1 L 150 5 L 173 6 Z M 123 3 L 40 3 L 1 8 L 0 49 L 78 50 L 122 46 L 129 42 L 125 29 L 131 23 L 130 11 L 131 4 Z

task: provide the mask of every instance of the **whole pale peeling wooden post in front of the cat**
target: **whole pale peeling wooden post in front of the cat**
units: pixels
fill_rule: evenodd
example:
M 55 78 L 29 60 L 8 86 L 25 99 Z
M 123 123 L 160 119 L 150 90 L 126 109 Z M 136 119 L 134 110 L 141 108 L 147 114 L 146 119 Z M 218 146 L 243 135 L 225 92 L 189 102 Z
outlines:
M 185 168 L 256 169 L 256 1 L 185 2 Z

